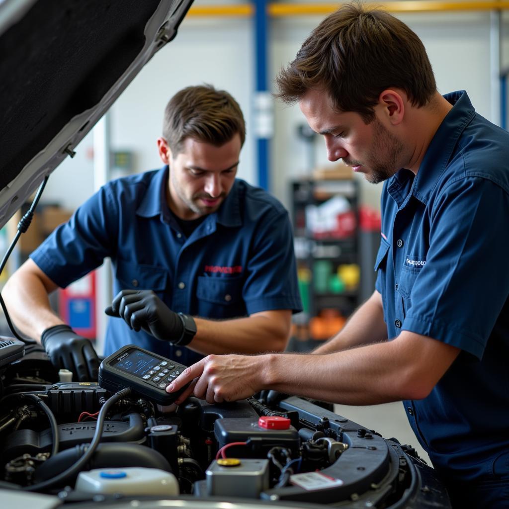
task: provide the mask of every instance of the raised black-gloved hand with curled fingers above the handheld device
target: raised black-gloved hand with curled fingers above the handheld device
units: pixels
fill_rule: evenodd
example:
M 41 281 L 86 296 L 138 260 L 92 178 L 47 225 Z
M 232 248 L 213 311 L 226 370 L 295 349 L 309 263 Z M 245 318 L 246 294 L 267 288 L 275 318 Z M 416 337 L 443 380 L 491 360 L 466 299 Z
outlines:
M 120 317 L 136 332 L 143 329 L 161 341 L 178 341 L 184 325 L 152 290 L 122 290 L 104 313 Z

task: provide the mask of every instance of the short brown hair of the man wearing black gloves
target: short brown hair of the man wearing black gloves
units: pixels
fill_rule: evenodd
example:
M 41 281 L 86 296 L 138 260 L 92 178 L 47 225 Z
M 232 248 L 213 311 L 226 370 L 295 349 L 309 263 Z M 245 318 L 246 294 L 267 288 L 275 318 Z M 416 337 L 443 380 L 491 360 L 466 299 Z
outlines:
M 246 128 L 240 106 L 228 92 L 211 85 L 177 92 L 164 110 L 162 135 L 174 156 L 180 153 L 186 138 L 220 147 L 237 133 L 242 146 Z

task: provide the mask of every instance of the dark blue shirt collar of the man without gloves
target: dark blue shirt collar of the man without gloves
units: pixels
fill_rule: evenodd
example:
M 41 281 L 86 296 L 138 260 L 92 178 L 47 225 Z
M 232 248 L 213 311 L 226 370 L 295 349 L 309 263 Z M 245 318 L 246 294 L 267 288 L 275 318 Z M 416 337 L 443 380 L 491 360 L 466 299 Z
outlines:
M 412 194 L 424 204 L 428 203 L 430 194 L 450 161 L 463 130 L 475 116 L 475 109 L 464 90 L 451 92 L 444 95 L 444 98 L 453 105 L 453 108 L 433 136 L 412 187 Z M 412 177 L 411 172 L 400 170 L 387 182 L 387 190 L 399 206 L 405 201 L 407 193 L 404 193 L 403 189 L 408 186 Z

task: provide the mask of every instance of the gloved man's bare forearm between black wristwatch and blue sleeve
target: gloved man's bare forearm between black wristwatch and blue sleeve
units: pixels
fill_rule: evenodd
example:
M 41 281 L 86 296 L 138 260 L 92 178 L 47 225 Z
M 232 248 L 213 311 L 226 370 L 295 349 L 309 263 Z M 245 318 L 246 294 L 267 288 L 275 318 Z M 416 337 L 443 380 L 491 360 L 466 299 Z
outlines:
M 269 311 L 223 321 L 195 318 L 195 322 L 196 335 L 189 348 L 201 354 L 282 352 L 289 339 L 291 312 Z

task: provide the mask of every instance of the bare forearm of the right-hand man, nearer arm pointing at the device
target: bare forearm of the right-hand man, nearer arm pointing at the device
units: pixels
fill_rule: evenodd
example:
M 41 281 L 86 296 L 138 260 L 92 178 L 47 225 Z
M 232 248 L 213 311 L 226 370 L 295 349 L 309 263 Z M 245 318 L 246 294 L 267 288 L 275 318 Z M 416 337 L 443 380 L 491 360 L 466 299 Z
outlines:
M 425 398 L 458 353 L 405 331 L 390 342 L 331 354 L 268 354 L 261 373 L 264 388 L 345 405 L 376 405 Z

